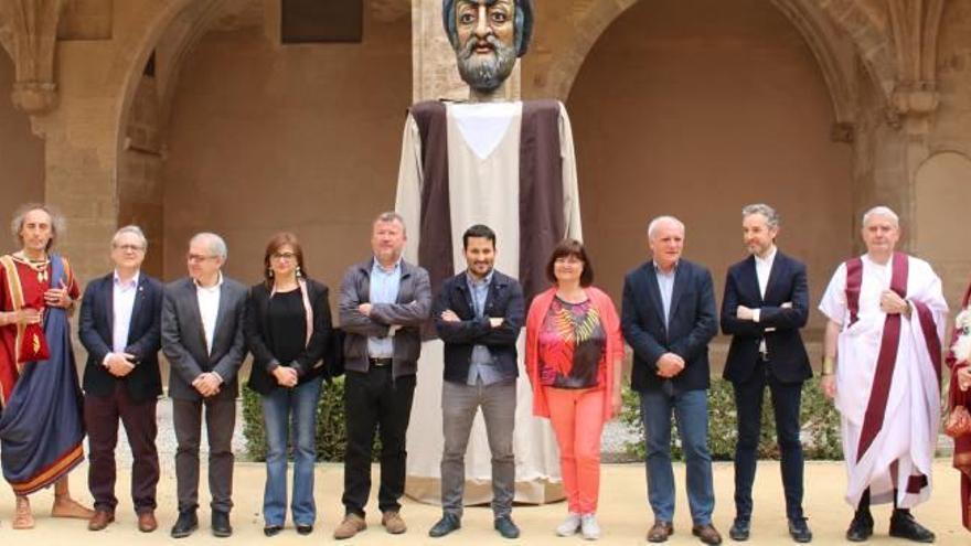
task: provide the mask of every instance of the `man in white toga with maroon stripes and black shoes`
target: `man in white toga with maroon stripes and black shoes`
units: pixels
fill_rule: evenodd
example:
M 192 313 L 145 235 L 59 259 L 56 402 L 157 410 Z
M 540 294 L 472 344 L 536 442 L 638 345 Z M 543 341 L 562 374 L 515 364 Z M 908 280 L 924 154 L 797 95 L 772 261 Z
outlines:
M 871 503 L 893 502 L 890 536 L 933 542 L 910 508 L 931 491 L 948 304 L 928 263 L 894 251 L 892 210 L 864 214 L 862 235 L 866 254 L 840 265 L 820 303 L 830 319 L 822 387 L 841 414 L 846 502 L 856 507 L 846 539 L 866 540 Z

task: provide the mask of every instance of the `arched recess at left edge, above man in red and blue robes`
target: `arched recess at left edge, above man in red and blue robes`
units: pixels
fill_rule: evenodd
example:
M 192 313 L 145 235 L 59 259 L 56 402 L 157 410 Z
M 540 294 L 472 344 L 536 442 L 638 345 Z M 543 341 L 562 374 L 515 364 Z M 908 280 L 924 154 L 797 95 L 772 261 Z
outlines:
M 44 201 L 44 141 L 31 132 L 30 117 L 10 101 L 13 82 L 13 62 L 0 49 L 0 218 L 4 226 L 22 203 Z M 11 244 L 8 239 L 3 248 Z

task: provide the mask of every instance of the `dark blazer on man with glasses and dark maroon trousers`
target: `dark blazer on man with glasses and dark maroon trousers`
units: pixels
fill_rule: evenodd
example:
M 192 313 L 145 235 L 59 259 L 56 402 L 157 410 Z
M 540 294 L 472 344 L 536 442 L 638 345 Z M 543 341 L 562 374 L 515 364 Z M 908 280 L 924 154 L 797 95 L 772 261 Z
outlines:
M 159 375 L 161 349 L 162 283 L 145 275 L 138 276 L 135 307 L 128 326 L 125 352 L 135 355 L 135 370 L 118 378 L 103 365 L 111 351 L 115 324 L 114 271 L 93 280 L 81 300 L 78 336 L 87 350 L 84 366 L 84 390 L 95 396 L 109 396 L 117 382 L 122 382 L 132 400 L 142 402 L 162 394 Z

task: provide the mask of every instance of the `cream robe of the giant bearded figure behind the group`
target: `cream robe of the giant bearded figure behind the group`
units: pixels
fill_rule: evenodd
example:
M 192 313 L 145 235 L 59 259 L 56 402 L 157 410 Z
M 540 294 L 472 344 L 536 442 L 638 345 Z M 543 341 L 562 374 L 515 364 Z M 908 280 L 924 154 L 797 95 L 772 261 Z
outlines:
M 545 234 L 547 240 L 564 237 L 580 238 L 579 200 L 577 192 L 576 160 L 574 158 L 573 136 L 569 118 L 562 104 L 548 103 L 546 106 L 556 120 L 553 139 L 558 137 L 559 153 L 554 153 L 555 165 L 538 165 L 541 170 L 555 168 L 559 174 L 555 184 L 557 199 L 562 202 L 553 204 L 557 216 L 555 225 L 562 233 Z M 436 105 L 436 107 L 439 107 Z M 558 115 L 557 115 L 558 111 Z M 395 208 L 406 223 L 408 246 L 406 257 L 433 272 L 433 290 L 436 286 L 435 270 L 441 270 L 429 261 L 445 260 L 448 274 L 454 275 L 466 268 L 462 253 L 461 235 L 473 224 L 486 224 L 497 233 L 495 267 L 514 277 L 520 277 L 523 268 L 529 267 L 535 279 L 537 265 L 545 264 L 548 250 L 524 251 L 532 248 L 535 240 L 530 237 L 540 234 L 524 233 L 532 231 L 535 217 L 549 213 L 549 207 L 533 201 L 524 201 L 521 195 L 520 176 L 521 158 L 535 161 L 531 151 L 523 149 L 522 140 L 527 137 L 532 127 L 523 127 L 524 103 L 486 103 L 486 104 L 445 104 L 444 121 L 445 142 L 447 143 L 447 189 L 448 225 L 429 227 L 437 222 L 436 213 L 429 208 L 428 183 L 430 165 L 423 164 L 423 158 L 429 150 L 423 149 L 422 128 L 413 113 L 408 115 L 405 126 L 402 162 L 398 176 L 397 199 Z M 439 129 L 440 130 L 440 129 Z M 534 131 L 535 132 L 535 131 Z M 547 131 L 549 132 L 549 131 Z M 543 139 L 542 130 L 538 139 Z M 549 137 L 549 135 L 547 135 Z M 529 137 L 531 142 L 536 138 Z M 430 141 L 431 139 L 428 138 Z M 439 139 L 438 142 L 441 140 Z M 542 144 L 542 142 L 541 142 Z M 433 144 L 434 146 L 434 144 Z M 551 144 L 556 146 L 556 144 Z M 542 146 L 541 146 L 542 148 Z M 532 148 L 531 148 L 532 149 Z M 545 161 L 540 158 L 538 161 Z M 548 169 L 547 169 L 548 170 Z M 445 173 L 439 173 L 444 175 Z M 548 181 L 546 182 L 548 183 Z M 541 192 L 542 193 L 542 192 Z M 439 195 L 440 196 L 440 195 Z M 543 210 L 538 210 L 543 208 Z M 439 211 L 438 213 L 445 213 Z M 558 217 L 562 215 L 562 218 Z M 523 217 L 526 216 L 526 217 Z M 442 216 L 445 217 L 445 216 Z M 538 229 L 538 228 L 537 228 Z M 553 235 L 553 237 L 551 237 Z M 419 248 L 430 240 L 422 237 L 450 238 L 451 253 L 447 250 L 430 255 Z M 544 246 L 549 246 L 546 244 Z M 427 247 L 426 247 L 427 248 Z M 445 247 L 442 247 L 445 248 Z M 543 254 L 536 256 L 535 254 Z M 523 258 L 523 255 L 525 257 Z M 529 260 L 530 264 L 522 264 Z M 438 264 L 441 266 L 441 264 Z M 440 275 L 439 275 L 440 277 Z M 545 287 L 530 286 L 522 279 L 526 297 L 533 296 Z M 533 282 L 535 285 L 535 282 Z M 531 293 L 532 292 L 532 293 Z M 527 301 L 529 304 L 529 301 Z M 562 499 L 559 460 L 555 437 L 548 421 L 532 415 L 532 390 L 522 364 L 522 338 L 520 339 L 520 378 L 516 392 L 516 421 L 514 432 L 514 452 L 516 459 L 516 502 L 543 503 Z M 440 502 L 440 470 L 442 450 L 441 428 L 441 383 L 442 383 L 442 344 L 439 340 L 426 341 L 422 347 L 418 364 L 418 379 L 415 389 L 415 403 L 408 430 L 408 479 L 406 493 L 425 502 Z M 492 497 L 491 490 L 491 454 L 486 437 L 486 427 L 481 413 L 476 417 L 469 447 L 466 453 L 466 491 L 467 504 L 488 502 Z

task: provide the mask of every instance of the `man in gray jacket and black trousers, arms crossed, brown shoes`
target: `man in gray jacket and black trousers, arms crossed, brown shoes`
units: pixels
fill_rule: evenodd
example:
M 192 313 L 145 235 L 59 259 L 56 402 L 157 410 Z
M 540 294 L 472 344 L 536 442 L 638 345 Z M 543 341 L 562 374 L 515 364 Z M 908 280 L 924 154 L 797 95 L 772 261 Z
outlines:
M 381 524 L 406 531 L 398 511 L 405 492 L 405 435 L 412 415 L 422 325 L 431 310 L 428 272 L 402 259 L 405 223 L 396 213 L 374 221 L 372 258 L 351 266 L 341 283 L 344 340 L 344 521 L 334 538 L 363 531 L 371 494 L 371 446 L 381 433 Z

